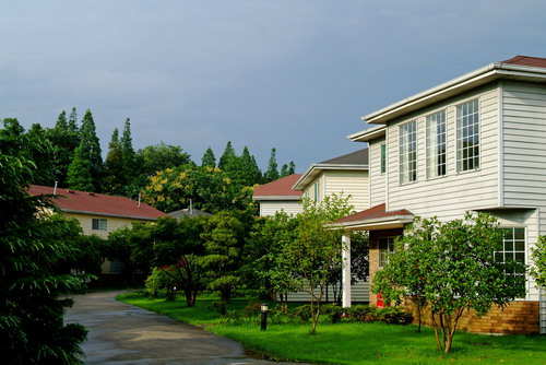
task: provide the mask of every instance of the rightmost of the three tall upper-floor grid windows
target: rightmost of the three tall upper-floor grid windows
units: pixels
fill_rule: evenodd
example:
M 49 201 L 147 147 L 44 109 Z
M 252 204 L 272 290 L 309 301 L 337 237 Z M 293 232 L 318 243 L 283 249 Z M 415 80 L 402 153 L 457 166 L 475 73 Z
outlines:
M 456 107 L 456 170 L 479 168 L 478 101 Z

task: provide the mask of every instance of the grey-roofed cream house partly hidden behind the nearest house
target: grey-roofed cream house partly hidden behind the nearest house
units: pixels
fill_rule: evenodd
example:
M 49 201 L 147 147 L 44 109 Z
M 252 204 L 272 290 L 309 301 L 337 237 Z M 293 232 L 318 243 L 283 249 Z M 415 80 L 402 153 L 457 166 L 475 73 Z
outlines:
M 368 149 L 311 165 L 294 185 L 304 198 L 321 201 L 332 193 L 351 196 L 348 203 L 359 211 L 369 208 Z

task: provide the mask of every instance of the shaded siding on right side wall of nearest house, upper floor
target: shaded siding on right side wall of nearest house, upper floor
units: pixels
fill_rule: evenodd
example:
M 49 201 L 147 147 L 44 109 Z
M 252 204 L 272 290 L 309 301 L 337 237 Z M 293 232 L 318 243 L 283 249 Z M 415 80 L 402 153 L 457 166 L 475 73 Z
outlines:
M 503 203 L 546 209 L 546 86 L 503 83 Z

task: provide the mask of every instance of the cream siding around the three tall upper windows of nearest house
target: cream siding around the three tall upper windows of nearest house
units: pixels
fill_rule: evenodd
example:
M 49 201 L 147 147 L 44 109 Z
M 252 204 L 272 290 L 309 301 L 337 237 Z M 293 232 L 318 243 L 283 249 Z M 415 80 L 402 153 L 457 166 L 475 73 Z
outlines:
M 455 107 L 478 98 L 480 119 L 480 167 L 456 173 Z M 447 176 L 428 179 L 425 168 L 425 117 L 439 110 L 447 111 Z M 442 220 L 461 217 L 465 211 L 498 203 L 498 143 L 497 89 L 495 85 L 467 93 L 448 103 L 436 105 L 418 114 L 389 125 L 388 210 L 407 209 L 424 217 L 437 215 Z M 399 184 L 399 126 L 417 121 L 417 181 Z M 375 160 L 375 158 L 373 158 Z M 371 179 L 373 184 L 373 178 Z

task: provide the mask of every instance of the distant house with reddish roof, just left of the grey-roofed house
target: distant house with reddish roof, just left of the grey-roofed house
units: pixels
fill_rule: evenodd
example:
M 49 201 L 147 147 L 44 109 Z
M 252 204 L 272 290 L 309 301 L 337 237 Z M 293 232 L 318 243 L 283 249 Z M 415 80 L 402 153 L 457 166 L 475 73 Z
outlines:
M 294 184 L 300 177 L 300 174 L 292 174 L 258 186 L 254 189 L 252 199 L 260 204 L 260 216 L 274 215 L 281 211 L 287 214 L 300 213 L 301 191 L 293 189 Z

